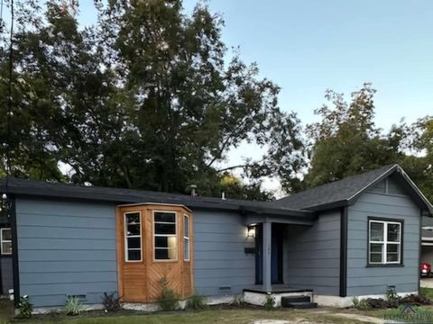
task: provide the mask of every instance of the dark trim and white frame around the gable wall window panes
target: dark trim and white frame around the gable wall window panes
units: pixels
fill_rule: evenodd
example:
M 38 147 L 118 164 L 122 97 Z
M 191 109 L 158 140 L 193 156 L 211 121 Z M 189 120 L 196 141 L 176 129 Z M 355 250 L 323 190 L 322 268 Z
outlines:
M 371 262 L 370 261 L 370 224 L 371 222 L 382 222 L 386 223 L 386 231 L 384 226 L 384 237 L 383 237 L 383 256 L 382 256 L 382 262 Z M 388 236 L 388 224 L 399 224 L 400 225 L 400 259 L 399 261 L 393 261 L 393 262 L 387 262 L 386 261 L 386 246 L 388 244 L 388 241 L 385 240 Z M 374 243 L 374 241 L 373 241 Z M 392 243 L 391 243 L 392 244 Z M 396 244 L 397 245 L 397 244 Z M 380 217 L 373 217 L 369 216 L 367 219 L 367 267 L 387 267 L 387 266 L 404 266 L 404 220 L 401 219 L 392 219 L 392 218 L 380 218 Z M 383 263 L 383 258 L 385 258 L 385 262 Z

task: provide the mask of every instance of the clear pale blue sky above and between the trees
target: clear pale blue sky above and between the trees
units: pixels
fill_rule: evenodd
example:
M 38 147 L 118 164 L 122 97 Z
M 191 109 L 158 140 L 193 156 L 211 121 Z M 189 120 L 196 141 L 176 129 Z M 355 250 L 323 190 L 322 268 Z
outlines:
M 197 1 L 184 0 L 187 12 Z M 222 14 L 227 46 L 256 62 L 261 76 L 281 86 L 285 111 L 305 123 L 325 103 L 326 89 L 350 94 L 372 82 L 379 127 L 415 121 L 433 108 L 431 0 L 210 0 Z M 93 0 L 79 1 L 78 21 L 95 22 Z M 246 146 L 231 162 L 248 156 Z M 269 181 L 267 180 L 267 183 Z M 276 184 L 266 184 L 275 187 Z

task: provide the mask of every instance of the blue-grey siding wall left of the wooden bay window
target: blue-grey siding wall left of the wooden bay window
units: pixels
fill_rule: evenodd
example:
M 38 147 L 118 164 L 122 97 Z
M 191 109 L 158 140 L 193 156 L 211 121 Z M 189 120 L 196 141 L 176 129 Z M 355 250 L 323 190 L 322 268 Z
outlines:
M 18 197 L 20 294 L 35 307 L 117 291 L 115 205 Z

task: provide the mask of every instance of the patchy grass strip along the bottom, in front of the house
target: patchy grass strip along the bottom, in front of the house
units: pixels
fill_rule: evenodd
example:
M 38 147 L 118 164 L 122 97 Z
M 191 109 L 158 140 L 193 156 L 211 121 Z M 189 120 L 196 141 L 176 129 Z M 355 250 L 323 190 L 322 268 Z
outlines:
M 294 311 L 276 309 L 264 311 L 257 308 L 227 309 L 225 307 L 212 307 L 205 311 L 172 311 L 144 313 L 134 311 L 117 311 L 105 313 L 104 311 L 88 311 L 76 317 L 67 317 L 62 314 L 33 316 L 29 320 L 18 320 L 13 317 L 13 309 L 8 302 L 0 302 L 0 324 L 9 323 L 35 323 L 35 324 L 249 324 L 255 320 L 289 320 L 302 323 L 348 323 L 360 324 L 359 320 L 338 318 L 333 312 L 341 310 L 307 310 Z M 365 322 L 364 322 L 365 323 Z

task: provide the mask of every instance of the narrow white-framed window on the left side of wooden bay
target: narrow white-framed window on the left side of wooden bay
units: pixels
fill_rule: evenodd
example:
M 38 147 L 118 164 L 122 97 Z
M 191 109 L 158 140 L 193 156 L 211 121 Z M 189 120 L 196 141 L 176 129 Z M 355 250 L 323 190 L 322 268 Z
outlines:
M 124 213 L 124 259 L 140 262 L 142 253 L 142 214 L 140 211 Z

